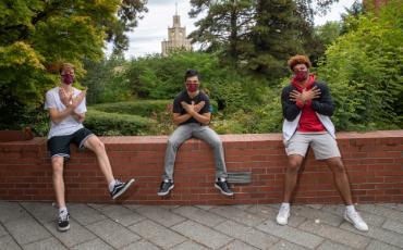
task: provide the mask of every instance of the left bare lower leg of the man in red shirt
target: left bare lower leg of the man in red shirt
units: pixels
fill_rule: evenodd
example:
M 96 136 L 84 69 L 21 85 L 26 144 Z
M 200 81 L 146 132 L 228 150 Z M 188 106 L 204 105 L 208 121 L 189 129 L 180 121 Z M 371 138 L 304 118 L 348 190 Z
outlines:
M 285 170 L 285 182 L 284 182 L 284 203 L 290 203 L 292 192 L 295 188 L 298 170 L 303 163 L 304 158 L 298 154 L 289 155 L 289 165 Z

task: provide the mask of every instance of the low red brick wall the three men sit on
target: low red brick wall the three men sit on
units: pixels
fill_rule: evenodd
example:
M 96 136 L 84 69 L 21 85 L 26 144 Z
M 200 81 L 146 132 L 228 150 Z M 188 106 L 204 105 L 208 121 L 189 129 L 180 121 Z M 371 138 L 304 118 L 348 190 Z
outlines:
M 229 172 L 252 172 L 252 184 L 233 185 L 228 198 L 213 188 L 213 157 L 208 146 L 191 139 L 180 149 L 175 188 L 157 196 L 167 137 L 103 137 L 115 177 L 135 177 L 121 202 L 142 204 L 235 204 L 280 202 L 286 157 L 280 134 L 221 136 Z M 339 133 L 355 202 L 403 202 L 403 130 Z M 64 172 L 69 202 L 112 202 L 89 151 L 72 146 Z M 52 172 L 46 139 L 0 143 L 0 199 L 53 201 Z M 331 172 L 308 152 L 295 202 L 341 203 Z

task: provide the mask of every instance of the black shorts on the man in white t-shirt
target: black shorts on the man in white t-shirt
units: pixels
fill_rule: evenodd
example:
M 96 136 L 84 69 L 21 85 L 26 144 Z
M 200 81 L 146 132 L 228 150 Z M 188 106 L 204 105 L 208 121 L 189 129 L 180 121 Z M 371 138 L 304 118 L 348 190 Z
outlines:
M 50 151 L 50 157 L 70 158 L 70 143 L 73 142 L 80 149 L 82 149 L 84 148 L 84 142 L 90 136 L 94 136 L 94 133 L 85 127 L 71 135 L 53 136 L 48 140 L 48 150 Z

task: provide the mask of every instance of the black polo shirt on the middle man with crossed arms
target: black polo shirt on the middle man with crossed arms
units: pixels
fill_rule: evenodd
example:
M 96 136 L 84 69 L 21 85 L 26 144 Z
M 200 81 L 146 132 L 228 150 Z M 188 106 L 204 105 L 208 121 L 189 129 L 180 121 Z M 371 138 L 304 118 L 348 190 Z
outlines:
M 181 115 L 186 114 L 186 110 L 183 109 L 183 107 L 181 105 L 182 101 L 186 102 L 187 104 L 192 104 L 192 101 L 194 101 L 195 104 L 205 101 L 205 107 L 203 107 L 203 109 L 198 113 L 204 114 L 210 112 L 210 99 L 207 97 L 206 93 L 202 91 L 199 91 L 198 95 L 193 99 L 187 95 L 187 90 L 183 90 L 182 92 L 180 92 L 173 100 L 173 113 L 179 113 Z M 180 125 L 187 123 L 199 123 L 199 122 L 197 122 L 197 120 L 195 120 L 194 117 L 191 117 L 186 122 L 181 123 Z

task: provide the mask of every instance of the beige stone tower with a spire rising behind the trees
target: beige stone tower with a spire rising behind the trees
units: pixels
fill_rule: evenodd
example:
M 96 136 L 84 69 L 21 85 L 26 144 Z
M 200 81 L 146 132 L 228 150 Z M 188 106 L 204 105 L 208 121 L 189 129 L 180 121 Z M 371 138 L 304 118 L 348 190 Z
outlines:
M 178 15 L 178 4 L 175 15 L 173 16 L 172 27 L 168 27 L 168 41 L 161 42 L 162 55 L 168 55 L 174 49 L 192 50 L 192 45 L 186 39 L 186 27 L 181 27 L 181 16 Z

